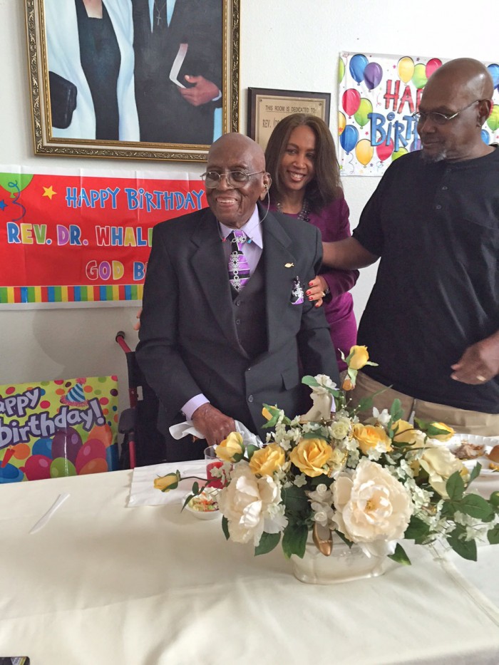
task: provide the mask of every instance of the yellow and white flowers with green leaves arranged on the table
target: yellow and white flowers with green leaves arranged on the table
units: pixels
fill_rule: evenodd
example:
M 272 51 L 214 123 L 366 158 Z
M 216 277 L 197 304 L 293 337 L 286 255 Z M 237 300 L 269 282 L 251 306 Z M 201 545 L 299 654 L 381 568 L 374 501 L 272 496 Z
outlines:
M 404 564 L 410 560 L 398 541 L 446 540 L 458 555 L 476 560 L 477 540 L 499 542 L 499 492 L 489 500 L 468 493 L 480 465 L 468 472 L 442 445 L 453 430 L 417 420 L 413 426 L 401 418 L 398 400 L 389 411 L 374 408 L 361 423 L 357 414 L 372 398 L 354 405 L 349 391 L 357 371 L 374 363 L 365 346 L 353 346 L 345 361 L 341 388 L 328 376 L 303 378 L 313 401 L 304 416 L 290 419 L 264 405 L 269 433 L 262 448 L 246 445 L 240 433 L 217 446 L 228 475 L 217 497 L 225 536 L 253 542 L 257 555 L 281 542 L 286 557 L 303 557 L 310 532 L 324 555 L 335 532 L 367 556 Z M 180 473 L 157 480 L 172 489 Z M 192 495 L 203 489 L 195 483 Z

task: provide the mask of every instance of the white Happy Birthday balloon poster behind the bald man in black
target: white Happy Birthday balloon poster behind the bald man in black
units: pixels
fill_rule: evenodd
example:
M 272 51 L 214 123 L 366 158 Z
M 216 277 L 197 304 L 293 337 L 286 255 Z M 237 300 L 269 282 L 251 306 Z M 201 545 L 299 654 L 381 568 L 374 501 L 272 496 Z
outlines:
M 413 113 L 431 74 L 444 58 L 341 53 L 338 159 L 341 175 L 383 175 L 393 160 L 421 144 Z M 493 78 L 493 108 L 485 143 L 499 140 L 499 64 L 484 63 Z

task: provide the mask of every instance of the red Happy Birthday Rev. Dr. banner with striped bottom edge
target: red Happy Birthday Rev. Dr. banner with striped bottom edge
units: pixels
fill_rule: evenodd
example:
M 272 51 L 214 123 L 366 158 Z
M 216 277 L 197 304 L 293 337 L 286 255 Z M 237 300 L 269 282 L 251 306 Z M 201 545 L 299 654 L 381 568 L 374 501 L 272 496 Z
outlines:
M 140 300 L 153 227 L 207 205 L 187 173 L 0 171 L 2 309 Z

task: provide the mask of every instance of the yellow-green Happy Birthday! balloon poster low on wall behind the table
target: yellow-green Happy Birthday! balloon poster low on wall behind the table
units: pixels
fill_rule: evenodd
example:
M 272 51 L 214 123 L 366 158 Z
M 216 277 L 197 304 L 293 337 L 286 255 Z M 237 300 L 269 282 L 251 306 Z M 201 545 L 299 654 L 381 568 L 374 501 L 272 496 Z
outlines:
M 118 379 L 0 386 L 0 483 L 118 469 Z

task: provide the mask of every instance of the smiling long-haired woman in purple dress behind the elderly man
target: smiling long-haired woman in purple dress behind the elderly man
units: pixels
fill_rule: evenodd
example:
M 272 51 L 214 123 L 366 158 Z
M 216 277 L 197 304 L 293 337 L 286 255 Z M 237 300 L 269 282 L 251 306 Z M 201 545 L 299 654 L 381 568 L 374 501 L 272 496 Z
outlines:
M 304 113 L 283 118 L 269 138 L 265 160 L 272 176 L 271 210 L 313 224 L 323 242 L 349 237 L 349 207 L 341 188 L 333 137 L 323 120 Z M 357 270 L 324 267 L 307 290 L 310 300 L 324 301 L 340 371 L 346 369 L 340 351 L 347 356 L 356 344 L 349 290 L 357 277 Z

